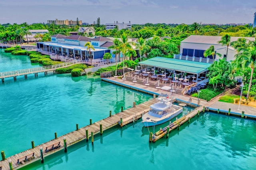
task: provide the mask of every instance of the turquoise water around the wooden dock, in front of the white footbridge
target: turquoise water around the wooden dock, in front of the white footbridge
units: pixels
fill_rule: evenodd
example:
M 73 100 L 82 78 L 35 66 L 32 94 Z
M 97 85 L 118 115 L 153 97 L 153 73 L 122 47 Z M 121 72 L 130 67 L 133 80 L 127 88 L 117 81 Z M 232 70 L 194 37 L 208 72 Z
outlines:
M 0 55 L 1 59 L 5 54 Z M 14 63 L 10 65 L 15 68 Z M 30 148 L 31 140 L 41 144 L 54 138 L 55 131 L 60 136 L 75 130 L 76 123 L 82 127 L 89 124 L 89 119 L 94 122 L 108 117 L 109 110 L 117 113 L 122 105 L 128 108 L 133 101 L 151 99 L 95 77 L 41 73 L 38 77 L 17 78 L 0 83 L 0 150 L 6 156 Z M 190 110 L 185 108 L 184 113 Z M 256 121 L 205 113 L 172 131 L 168 139 L 149 143 L 149 131 L 153 132 L 153 128 L 143 127 L 140 120 L 123 128 L 117 126 L 104 131 L 102 136 L 96 135 L 93 145 L 90 140 L 83 140 L 68 147 L 67 153 L 62 150 L 46 157 L 44 164 L 37 161 L 22 170 L 256 167 Z

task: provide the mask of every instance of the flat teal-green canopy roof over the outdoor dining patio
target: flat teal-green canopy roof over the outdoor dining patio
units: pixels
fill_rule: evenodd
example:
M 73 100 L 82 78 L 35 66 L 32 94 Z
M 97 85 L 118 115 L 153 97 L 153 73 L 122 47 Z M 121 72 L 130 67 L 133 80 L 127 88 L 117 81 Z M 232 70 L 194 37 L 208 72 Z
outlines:
M 210 67 L 210 63 L 202 63 L 198 61 L 188 61 L 182 59 L 173 59 L 166 57 L 154 57 L 146 61 L 139 62 L 140 65 L 155 66 L 164 69 L 171 69 L 186 73 L 200 74 L 204 73 Z

